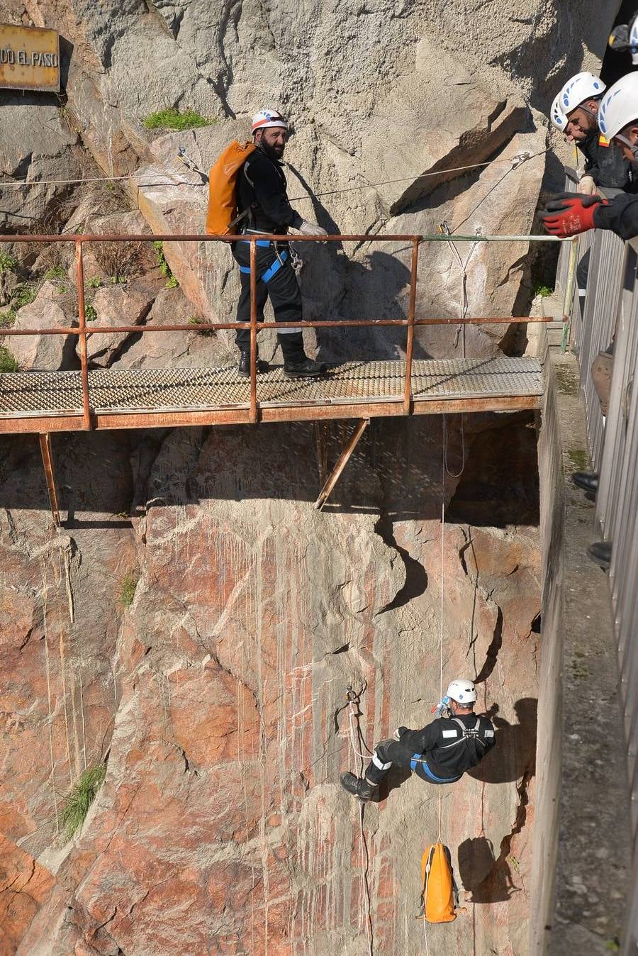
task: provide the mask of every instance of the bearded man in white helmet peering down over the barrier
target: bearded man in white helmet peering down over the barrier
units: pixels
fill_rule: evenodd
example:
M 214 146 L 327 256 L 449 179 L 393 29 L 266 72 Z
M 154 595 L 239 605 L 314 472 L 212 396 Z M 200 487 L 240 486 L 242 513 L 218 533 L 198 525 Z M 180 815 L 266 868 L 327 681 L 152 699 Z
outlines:
M 579 73 L 567 80 L 549 113 L 559 129 L 585 157 L 580 192 L 593 195 L 598 187 L 626 189 L 629 163 L 598 128 L 598 111 L 606 85 L 599 76 Z

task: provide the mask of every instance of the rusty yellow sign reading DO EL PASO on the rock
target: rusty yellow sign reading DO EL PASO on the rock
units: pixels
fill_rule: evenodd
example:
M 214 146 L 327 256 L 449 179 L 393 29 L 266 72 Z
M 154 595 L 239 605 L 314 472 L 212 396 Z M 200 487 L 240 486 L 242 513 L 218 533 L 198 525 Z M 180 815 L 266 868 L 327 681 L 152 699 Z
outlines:
M 60 38 L 55 30 L 0 23 L 0 87 L 60 89 Z

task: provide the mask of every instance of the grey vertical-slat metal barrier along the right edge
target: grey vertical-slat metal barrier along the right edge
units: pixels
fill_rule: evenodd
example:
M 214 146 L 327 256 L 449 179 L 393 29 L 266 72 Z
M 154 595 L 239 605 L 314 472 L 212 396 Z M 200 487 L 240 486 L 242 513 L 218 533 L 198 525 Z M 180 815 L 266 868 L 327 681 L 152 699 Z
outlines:
M 606 190 L 604 190 L 606 192 Z M 585 309 L 578 289 L 572 303 L 571 339 L 578 346 L 581 397 L 589 456 L 598 472 L 596 522 L 612 543 L 609 590 L 618 648 L 620 692 L 627 735 L 634 880 L 623 956 L 638 945 L 638 250 L 614 233 L 596 229 L 581 237 L 590 250 Z M 606 419 L 590 365 L 614 337 L 613 373 Z

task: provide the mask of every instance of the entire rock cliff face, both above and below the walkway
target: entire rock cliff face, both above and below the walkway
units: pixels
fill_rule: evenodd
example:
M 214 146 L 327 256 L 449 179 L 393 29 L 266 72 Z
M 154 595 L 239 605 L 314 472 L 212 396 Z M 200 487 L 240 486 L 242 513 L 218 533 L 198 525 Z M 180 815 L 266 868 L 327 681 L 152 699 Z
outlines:
M 0 0 L 2 18 L 63 35 L 68 95 L 62 108 L 7 97 L 2 173 L 87 178 L 87 163 L 97 175 L 135 173 L 126 188 L 138 209 L 124 213 L 103 185 L 11 187 L 2 223 L 197 232 L 205 189 L 176 163 L 177 145 L 210 164 L 272 102 L 296 126 L 290 193 L 324 227 L 420 233 L 447 220 L 524 233 L 543 156 L 504 178 L 511 163 L 451 170 L 542 151 L 526 103 L 546 107 L 581 66 L 579 42 L 600 49 L 608 24 L 589 3 L 494 6 Z M 217 123 L 154 139 L 140 120 L 167 105 Z M 135 268 L 121 284 L 121 260 L 87 253 L 100 317 L 233 316 L 227 250 L 165 247 L 179 289 L 161 288 L 153 260 L 129 251 Z M 428 331 L 417 354 L 508 345 L 525 246 L 460 251 L 469 311 L 504 321 L 465 340 Z M 388 242 L 308 251 L 308 317 L 402 314 L 408 254 Z M 36 252 L 24 255 L 35 268 Z M 68 258 L 55 266 L 73 281 Z M 447 246 L 423 247 L 419 315 L 459 314 L 461 272 Z M 72 321 L 60 283 L 47 280 L 17 321 L 53 324 L 57 310 Z M 21 360 L 74 367 L 69 344 L 52 355 L 36 343 Z M 223 334 L 89 344 L 94 364 L 121 367 L 232 355 Z M 402 339 L 308 344 L 363 358 L 400 355 Z M 461 437 L 448 420 L 444 462 L 440 419 L 374 422 L 334 504 L 315 512 L 349 427 L 58 436 L 59 533 L 36 444 L 2 438 L 3 956 L 358 956 L 371 927 L 374 953 L 421 952 L 420 855 L 439 831 L 468 913 L 429 927 L 431 945 L 441 956 L 526 951 L 541 593 L 534 423 L 474 416 Z M 444 679 L 476 677 L 499 747 L 454 788 L 391 777 L 360 828 L 337 784 L 361 766 L 351 727 L 367 753 L 398 724 L 426 723 L 441 656 Z M 64 798 L 100 762 L 105 782 L 65 843 Z

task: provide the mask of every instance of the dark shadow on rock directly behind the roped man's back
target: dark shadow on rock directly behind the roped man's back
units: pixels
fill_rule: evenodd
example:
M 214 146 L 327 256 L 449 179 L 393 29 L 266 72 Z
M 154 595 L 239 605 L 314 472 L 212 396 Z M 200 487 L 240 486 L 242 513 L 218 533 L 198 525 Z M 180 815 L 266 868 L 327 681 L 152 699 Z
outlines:
M 487 711 L 497 728 L 496 747 L 468 775 L 482 783 L 508 783 L 520 780 L 525 774 L 534 776 L 538 701 L 533 697 L 522 697 L 516 702 L 517 724 L 508 724 L 498 717 L 498 709 L 497 704 Z

